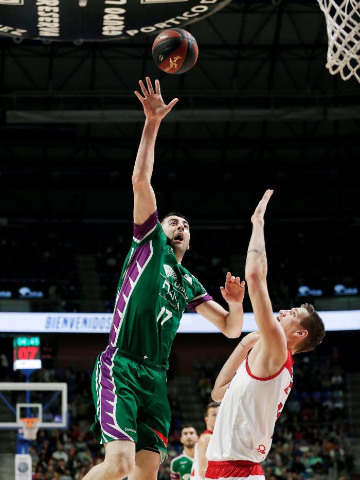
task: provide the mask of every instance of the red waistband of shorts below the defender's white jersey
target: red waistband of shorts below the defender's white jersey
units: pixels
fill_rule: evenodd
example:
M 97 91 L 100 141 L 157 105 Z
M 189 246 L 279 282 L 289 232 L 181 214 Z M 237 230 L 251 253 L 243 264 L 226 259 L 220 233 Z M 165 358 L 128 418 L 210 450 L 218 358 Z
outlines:
M 217 480 L 218 478 L 248 477 L 250 475 L 263 475 L 264 472 L 257 464 L 249 460 L 209 460 L 205 477 Z

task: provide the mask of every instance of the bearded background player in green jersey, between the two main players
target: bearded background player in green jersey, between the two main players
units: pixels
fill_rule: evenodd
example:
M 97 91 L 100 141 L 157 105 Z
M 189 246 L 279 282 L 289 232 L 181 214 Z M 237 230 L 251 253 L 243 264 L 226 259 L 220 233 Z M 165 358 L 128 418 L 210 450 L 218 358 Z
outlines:
M 189 480 L 190 478 L 195 443 L 197 442 L 197 433 L 192 425 L 183 426 L 180 441 L 184 445 L 184 450 L 171 460 L 171 480 Z

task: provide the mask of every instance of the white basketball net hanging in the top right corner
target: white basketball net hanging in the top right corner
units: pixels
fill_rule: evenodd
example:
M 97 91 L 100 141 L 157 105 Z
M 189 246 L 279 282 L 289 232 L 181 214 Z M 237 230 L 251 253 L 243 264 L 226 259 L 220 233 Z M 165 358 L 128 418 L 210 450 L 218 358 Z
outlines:
M 360 82 L 360 1 L 317 0 L 325 13 L 329 48 L 326 67 L 343 80 Z

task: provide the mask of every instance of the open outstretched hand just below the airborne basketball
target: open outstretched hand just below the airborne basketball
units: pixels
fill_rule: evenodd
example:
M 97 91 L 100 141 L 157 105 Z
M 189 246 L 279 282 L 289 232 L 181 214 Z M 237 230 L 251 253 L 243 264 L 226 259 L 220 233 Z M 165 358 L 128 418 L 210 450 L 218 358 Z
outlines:
M 142 80 L 139 80 L 143 96 L 140 95 L 139 92 L 135 92 L 135 95 L 142 103 L 146 118 L 148 120 L 160 121 L 170 112 L 175 103 L 178 102 L 178 98 L 174 98 L 166 105 L 163 97 L 161 97 L 159 81 L 155 80 L 155 92 L 149 77 L 146 77 L 146 83 L 147 87 Z

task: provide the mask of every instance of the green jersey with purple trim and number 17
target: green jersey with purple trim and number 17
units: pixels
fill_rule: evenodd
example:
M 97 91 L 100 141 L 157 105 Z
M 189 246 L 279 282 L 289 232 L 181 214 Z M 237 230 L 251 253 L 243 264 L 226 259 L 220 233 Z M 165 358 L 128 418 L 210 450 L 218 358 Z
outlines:
M 131 250 L 119 281 L 109 345 L 153 368 L 168 368 L 172 341 L 186 307 L 210 300 L 181 264 L 163 232 L 157 211 L 134 225 Z

